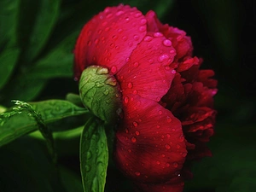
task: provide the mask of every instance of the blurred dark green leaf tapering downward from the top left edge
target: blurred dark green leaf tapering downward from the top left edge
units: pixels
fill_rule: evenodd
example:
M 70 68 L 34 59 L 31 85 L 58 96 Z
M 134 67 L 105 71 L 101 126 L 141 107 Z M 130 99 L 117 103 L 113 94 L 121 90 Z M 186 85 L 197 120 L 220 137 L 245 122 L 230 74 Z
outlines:
M 20 0 L 20 47 L 23 61 L 32 61 L 44 48 L 58 19 L 61 0 Z

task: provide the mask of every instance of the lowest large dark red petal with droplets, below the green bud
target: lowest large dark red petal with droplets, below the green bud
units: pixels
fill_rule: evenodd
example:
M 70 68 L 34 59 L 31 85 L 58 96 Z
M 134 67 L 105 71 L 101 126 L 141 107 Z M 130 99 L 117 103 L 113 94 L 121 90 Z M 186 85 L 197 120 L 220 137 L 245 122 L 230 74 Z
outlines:
M 187 155 L 180 121 L 157 102 L 137 95 L 125 96 L 124 111 L 116 133 L 119 169 L 144 183 L 178 177 Z

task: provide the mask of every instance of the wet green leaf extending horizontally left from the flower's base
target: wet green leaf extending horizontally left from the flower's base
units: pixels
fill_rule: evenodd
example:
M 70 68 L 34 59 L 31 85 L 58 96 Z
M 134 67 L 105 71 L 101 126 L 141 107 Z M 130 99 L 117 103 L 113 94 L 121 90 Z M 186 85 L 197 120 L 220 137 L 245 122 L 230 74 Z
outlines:
M 84 108 L 73 105 L 71 102 L 61 100 L 32 102 L 31 105 L 35 111 L 42 115 L 42 119 L 44 119 L 46 124 L 88 112 Z M 9 118 L 3 118 L 4 115 L 12 112 L 14 112 L 14 109 L 1 113 L 0 146 L 38 129 L 37 122 L 31 117 L 31 113 L 26 111 L 10 115 Z

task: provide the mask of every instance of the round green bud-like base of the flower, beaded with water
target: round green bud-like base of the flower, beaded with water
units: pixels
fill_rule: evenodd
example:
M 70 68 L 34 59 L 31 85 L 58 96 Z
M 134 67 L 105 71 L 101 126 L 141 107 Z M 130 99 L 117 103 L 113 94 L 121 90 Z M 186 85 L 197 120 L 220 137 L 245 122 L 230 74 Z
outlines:
M 108 68 L 90 66 L 84 69 L 79 81 L 84 106 L 107 124 L 115 124 L 122 113 L 120 88 Z

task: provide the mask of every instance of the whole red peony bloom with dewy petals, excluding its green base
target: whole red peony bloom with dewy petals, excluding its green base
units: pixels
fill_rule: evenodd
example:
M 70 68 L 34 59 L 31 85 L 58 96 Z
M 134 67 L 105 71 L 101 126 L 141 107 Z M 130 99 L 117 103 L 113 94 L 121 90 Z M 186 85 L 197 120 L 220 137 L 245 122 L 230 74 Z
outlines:
M 75 46 L 75 77 L 108 67 L 123 96 L 114 159 L 137 191 L 180 192 L 191 160 L 211 155 L 217 81 L 200 70 L 191 40 L 163 25 L 154 11 L 106 8 L 83 28 Z

